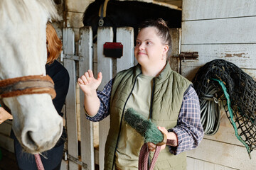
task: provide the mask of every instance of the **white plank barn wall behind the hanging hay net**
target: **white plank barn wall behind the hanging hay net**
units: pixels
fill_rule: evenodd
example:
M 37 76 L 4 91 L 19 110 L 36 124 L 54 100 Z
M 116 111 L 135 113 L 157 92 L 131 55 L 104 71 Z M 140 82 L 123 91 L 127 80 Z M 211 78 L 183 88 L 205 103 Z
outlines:
M 198 52 L 199 58 L 181 62 L 181 74 L 191 80 L 206 62 L 218 58 L 233 62 L 255 79 L 255 6 L 253 0 L 183 0 L 181 51 Z M 251 152 L 250 159 L 223 111 L 218 132 L 205 135 L 187 155 L 191 170 L 256 166 L 256 152 Z

